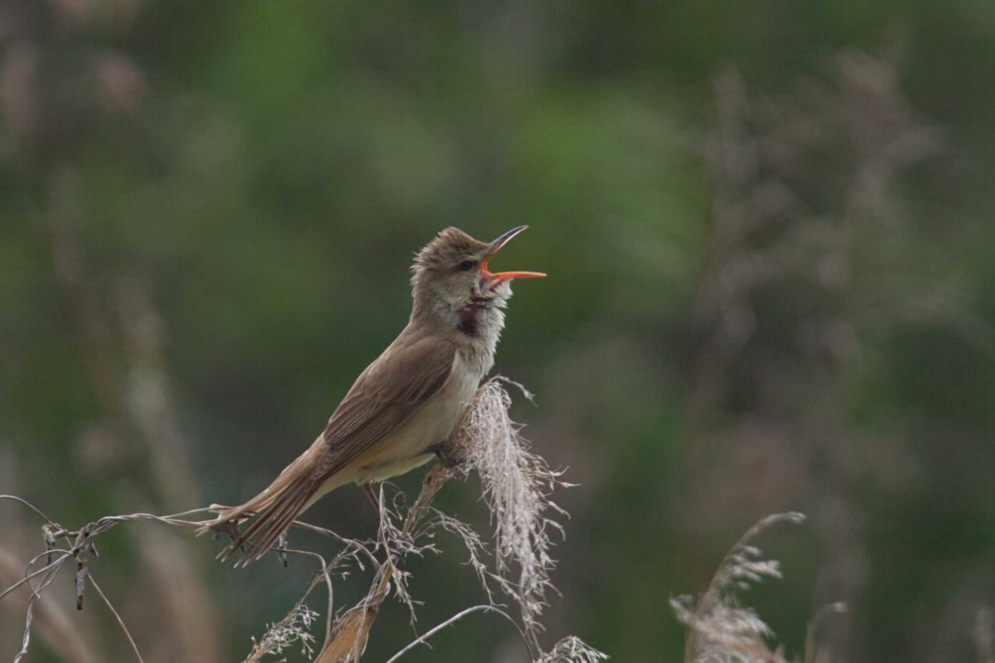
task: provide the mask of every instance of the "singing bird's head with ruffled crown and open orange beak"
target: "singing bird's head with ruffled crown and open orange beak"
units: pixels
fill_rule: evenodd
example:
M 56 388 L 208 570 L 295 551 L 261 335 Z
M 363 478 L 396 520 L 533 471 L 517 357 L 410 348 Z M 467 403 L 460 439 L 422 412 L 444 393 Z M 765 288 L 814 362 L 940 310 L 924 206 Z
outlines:
M 418 251 L 411 269 L 415 313 L 441 316 L 454 327 L 472 326 L 481 310 L 503 308 L 511 296 L 511 280 L 545 276 L 537 271 L 498 271 L 488 262 L 507 241 L 527 226 L 518 226 L 491 243 L 478 242 L 457 228 L 447 228 Z

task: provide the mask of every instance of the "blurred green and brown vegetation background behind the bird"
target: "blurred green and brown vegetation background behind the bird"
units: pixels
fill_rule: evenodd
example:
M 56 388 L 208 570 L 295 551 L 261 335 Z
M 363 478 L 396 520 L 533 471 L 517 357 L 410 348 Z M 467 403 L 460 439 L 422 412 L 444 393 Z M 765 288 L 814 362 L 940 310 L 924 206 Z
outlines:
M 0 51 L 0 492 L 73 527 L 250 497 L 403 327 L 412 251 L 524 223 L 497 266 L 549 277 L 516 285 L 496 372 L 581 484 L 547 645 L 680 661 L 668 598 L 798 510 L 758 542 L 785 580 L 744 596 L 788 655 L 844 600 L 833 660 L 983 660 L 991 2 L 2 0 Z M 438 503 L 487 530 L 478 497 Z M 373 533 L 354 488 L 307 518 Z M 4 584 L 40 524 L 0 504 Z M 412 562 L 420 630 L 481 600 L 441 543 Z M 241 660 L 308 575 L 151 524 L 99 546 L 150 662 Z M 43 601 L 65 646 L 130 660 L 71 585 Z M 45 624 L 26 660 L 61 660 Z M 412 637 L 392 603 L 363 660 Z M 404 660 L 521 660 L 482 615 L 434 647 Z

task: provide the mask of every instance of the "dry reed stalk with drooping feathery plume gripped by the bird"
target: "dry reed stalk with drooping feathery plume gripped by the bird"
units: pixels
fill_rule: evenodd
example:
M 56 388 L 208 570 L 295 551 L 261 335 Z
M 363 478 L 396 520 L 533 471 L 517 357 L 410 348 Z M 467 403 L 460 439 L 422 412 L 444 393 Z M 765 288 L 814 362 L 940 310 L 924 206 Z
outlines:
M 536 632 L 542 628 L 539 616 L 546 605 L 545 592 L 554 589 L 549 579 L 555 562 L 549 555 L 552 542 L 548 532 L 550 528 L 562 532 L 561 526 L 546 517 L 545 513 L 548 510 L 564 513 L 549 500 L 549 494 L 556 485 L 569 484 L 559 480 L 560 472 L 550 469 L 540 456 L 528 450 L 528 442 L 519 434 L 520 426 L 508 417 L 511 399 L 503 387 L 507 382 L 496 378 L 478 390 L 447 444 L 445 454 L 449 459 L 461 461 L 460 472 L 466 474 L 477 470 L 481 476 L 495 527 L 495 570 L 491 571 L 485 563 L 486 547 L 472 527 L 431 507 L 433 497 L 455 475 L 454 470 L 443 464 L 432 467 L 425 477 L 418 500 L 408 511 L 399 530 L 392 524 L 397 514 L 384 506 L 386 500 L 381 490 L 379 536 L 388 551 L 387 562 L 380 568 L 363 600 L 336 621 L 333 638 L 318 655 L 318 663 L 354 663 L 359 660 L 392 580 L 396 596 L 408 605 L 414 620 L 414 602 L 407 591 L 408 577 L 398 568 L 398 559 L 390 551 L 398 547 L 415 554 L 435 551 L 432 544 L 419 545 L 418 542 L 440 528 L 463 540 L 470 554 L 470 565 L 487 591 L 491 605 L 462 611 L 409 644 L 391 660 L 399 658 L 415 644 L 424 642 L 429 635 L 470 611 L 493 609 L 506 617 L 495 603 L 489 580 L 496 581 L 518 605 L 522 616 L 519 632 L 526 637 L 530 658 L 538 663 L 593 663 L 607 659 L 605 654 L 575 636 L 564 638 L 547 654 L 543 654 L 538 645 Z M 524 389 L 522 392 L 530 398 L 531 395 Z M 431 517 L 426 519 L 429 515 Z M 515 571 L 517 575 L 512 578 L 511 574 Z M 533 655 L 533 650 L 537 654 Z

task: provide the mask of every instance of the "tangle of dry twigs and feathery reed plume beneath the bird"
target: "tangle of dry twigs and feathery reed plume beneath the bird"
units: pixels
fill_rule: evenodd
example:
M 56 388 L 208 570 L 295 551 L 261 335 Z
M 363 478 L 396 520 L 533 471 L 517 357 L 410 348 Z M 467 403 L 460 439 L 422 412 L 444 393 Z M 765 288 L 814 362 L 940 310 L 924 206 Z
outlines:
M 504 389 L 505 384 L 516 385 L 496 378 L 481 387 L 445 447 L 443 455 L 446 462 L 436 463 L 427 472 L 421 493 L 410 508 L 404 508 L 403 494 L 394 492 L 388 499 L 387 488 L 380 486 L 380 523 L 375 540 L 345 539 L 324 528 L 298 521 L 294 523 L 298 529 L 320 534 L 340 548 L 326 562 L 318 553 L 290 548 L 287 537 L 280 542 L 274 550 L 279 559 L 286 563 L 288 555 L 307 557 L 317 562 L 318 573 L 287 615 L 269 625 L 259 639 L 253 638 L 252 650 L 243 663 L 256 663 L 268 655 L 281 654 L 291 646 L 300 646 L 301 653 L 308 658 L 312 655 L 315 639 L 310 628 L 318 613 L 308 607 L 305 600 L 314 587 L 322 583 L 328 594 L 325 637 L 315 658 L 318 663 L 358 661 L 366 648 L 379 608 L 391 595 L 407 605 L 414 625 L 419 601 L 409 591 L 411 576 L 404 568 L 404 561 L 411 555 L 439 553 L 435 535 L 440 531 L 455 534 L 463 542 L 470 555 L 469 564 L 481 581 L 487 602 L 462 610 L 430 629 L 394 654 L 388 663 L 398 660 L 435 633 L 472 612 L 494 613 L 511 622 L 522 637 L 528 660 L 535 663 L 593 663 L 608 658 L 572 635 L 555 643 L 548 652 L 544 652 L 539 644 L 538 633 L 542 630 L 540 617 L 547 605 L 547 591 L 555 590 L 550 580 L 555 561 L 550 555 L 552 542 L 549 532 L 556 530 L 562 533 L 562 526 L 549 514 L 565 515 L 550 501 L 549 495 L 557 485 L 570 484 L 560 480 L 560 471 L 551 469 L 540 456 L 529 450 L 528 442 L 520 435 L 521 426 L 508 417 L 511 398 Z M 530 398 L 523 388 L 522 393 Z M 466 477 L 474 470 L 481 477 L 483 495 L 491 509 L 495 538 L 493 560 L 483 538 L 470 525 L 432 507 L 433 498 L 448 480 Z M 171 516 L 145 513 L 108 516 L 78 530 L 70 530 L 18 497 L 3 495 L 0 499 L 20 502 L 46 521 L 42 527 L 46 550 L 28 563 L 21 580 L 0 592 L 2 599 L 18 587 L 30 590 L 23 646 L 14 660 L 19 661 L 28 652 L 35 603 L 63 568 L 75 562 L 78 609 L 83 607 L 85 587 L 89 581 L 124 630 L 137 660 L 143 661 L 124 618 L 114 609 L 92 576 L 91 556 L 97 555 L 94 540 L 124 522 L 156 521 L 196 528 L 201 523 L 191 517 L 201 515 L 207 509 Z M 363 571 L 367 566 L 373 572 L 373 580 L 366 595 L 356 605 L 338 612 L 336 616 L 332 579 L 344 579 L 350 567 Z M 520 622 L 508 614 L 504 609 L 506 606 L 497 602 L 498 593 L 492 584 L 496 584 L 500 593 L 514 602 Z

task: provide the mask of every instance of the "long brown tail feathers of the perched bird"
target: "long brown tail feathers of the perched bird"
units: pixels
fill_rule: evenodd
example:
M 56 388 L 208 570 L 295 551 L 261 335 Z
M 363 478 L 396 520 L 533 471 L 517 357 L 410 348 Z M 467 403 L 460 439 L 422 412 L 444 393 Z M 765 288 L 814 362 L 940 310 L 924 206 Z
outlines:
M 316 457 L 314 447 L 307 449 L 266 490 L 241 506 L 224 509 L 216 519 L 204 523 L 197 536 L 214 531 L 232 537 L 218 559 L 225 561 L 241 550 L 237 567 L 260 559 L 309 506 L 308 500 L 316 489 L 312 482 Z M 239 532 L 239 523 L 253 517 L 255 520 L 245 532 Z

